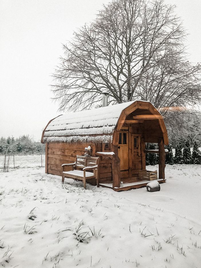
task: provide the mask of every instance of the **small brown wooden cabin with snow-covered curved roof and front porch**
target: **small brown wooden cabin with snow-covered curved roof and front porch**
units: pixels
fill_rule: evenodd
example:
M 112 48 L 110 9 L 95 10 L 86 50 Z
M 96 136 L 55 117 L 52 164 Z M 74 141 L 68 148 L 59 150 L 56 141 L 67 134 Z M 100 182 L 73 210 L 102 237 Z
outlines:
M 165 149 L 168 136 L 159 111 L 147 101 L 131 101 L 60 115 L 42 133 L 46 143 L 46 173 L 62 175 L 61 165 L 72 163 L 84 148 L 100 157 L 100 186 L 115 191 L 145 186 L 138 172 L 146 170 L 145 143 L 158 143 L 159 182 L 165 182 Z M 89 183 L 96 185 L 95 180 Z M 123 186 L 120 187 L 120 182 Z M 121 184 L 122 185 L 122 184 Z

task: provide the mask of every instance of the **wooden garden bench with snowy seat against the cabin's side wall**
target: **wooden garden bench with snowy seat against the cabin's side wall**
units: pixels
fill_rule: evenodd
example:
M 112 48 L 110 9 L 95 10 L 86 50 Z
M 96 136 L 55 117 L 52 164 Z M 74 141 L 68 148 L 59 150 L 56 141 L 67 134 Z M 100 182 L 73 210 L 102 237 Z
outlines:
M 62 183 L 64 183 L 64 178 L 82 180 L 84 182 L 84 188 L 86 189 L 86 179 L 96 178 L 97 187 L 99 187 L 98 166 L 99 157 L 77 155 L 74 163 L 62 165 Z M 64 167 L 72 167 L 72 170 L 64 171 Z M 93 170 L 93 172 L 86 170 Z

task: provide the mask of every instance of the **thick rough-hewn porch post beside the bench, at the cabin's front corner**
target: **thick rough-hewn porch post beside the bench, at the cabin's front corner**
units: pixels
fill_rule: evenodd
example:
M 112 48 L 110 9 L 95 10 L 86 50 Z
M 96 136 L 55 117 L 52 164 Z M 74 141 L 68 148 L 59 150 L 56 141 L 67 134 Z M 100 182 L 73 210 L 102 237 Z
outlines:
M 120 187 L 120 159 L 118 156 L 118 145 L 112 145 L 112 151 L 115 153 L 115 157 L 112 158 L 112 177 L 113 188 Z

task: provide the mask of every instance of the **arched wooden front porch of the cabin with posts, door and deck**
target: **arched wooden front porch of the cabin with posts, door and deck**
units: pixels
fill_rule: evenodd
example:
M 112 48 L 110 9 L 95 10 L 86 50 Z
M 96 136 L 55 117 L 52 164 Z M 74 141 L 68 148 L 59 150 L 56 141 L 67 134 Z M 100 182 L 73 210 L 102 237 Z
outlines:
M 157 150 L 146 150 L 146 143 L 157 143 Z M 96 156 L 111 159 L 112 180 L 101 181 L 101 187 L 115 191 L 146 186 L 149 180 L 139 178 L 139 171 L 146 170 L 146 154 L 157 153 L 159 165 L 156 179 L 165 182 L 165 151 L 168 144 L 167 130 L 159 111 L 151 105 L 138 101 L 124 109 L 113 132 L 110 146 L 96 151 Z M 153 178 L 152 178 L 153 179 Z M 123 186 L 120 186 L 123 182 Z

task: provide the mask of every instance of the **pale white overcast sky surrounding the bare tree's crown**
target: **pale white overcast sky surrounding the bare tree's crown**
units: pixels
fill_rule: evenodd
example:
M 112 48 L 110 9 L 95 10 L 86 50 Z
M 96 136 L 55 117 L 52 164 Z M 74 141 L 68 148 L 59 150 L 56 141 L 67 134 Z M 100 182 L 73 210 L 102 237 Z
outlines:
M 191 62 L 201 62 L 201 1 L 165 0 L 177 6 L 189 34 Z M 0 0 L 0 136 L 41 139 L 60 113 L 50 84 L 61 43 L 90 22 L 109 0 Z

